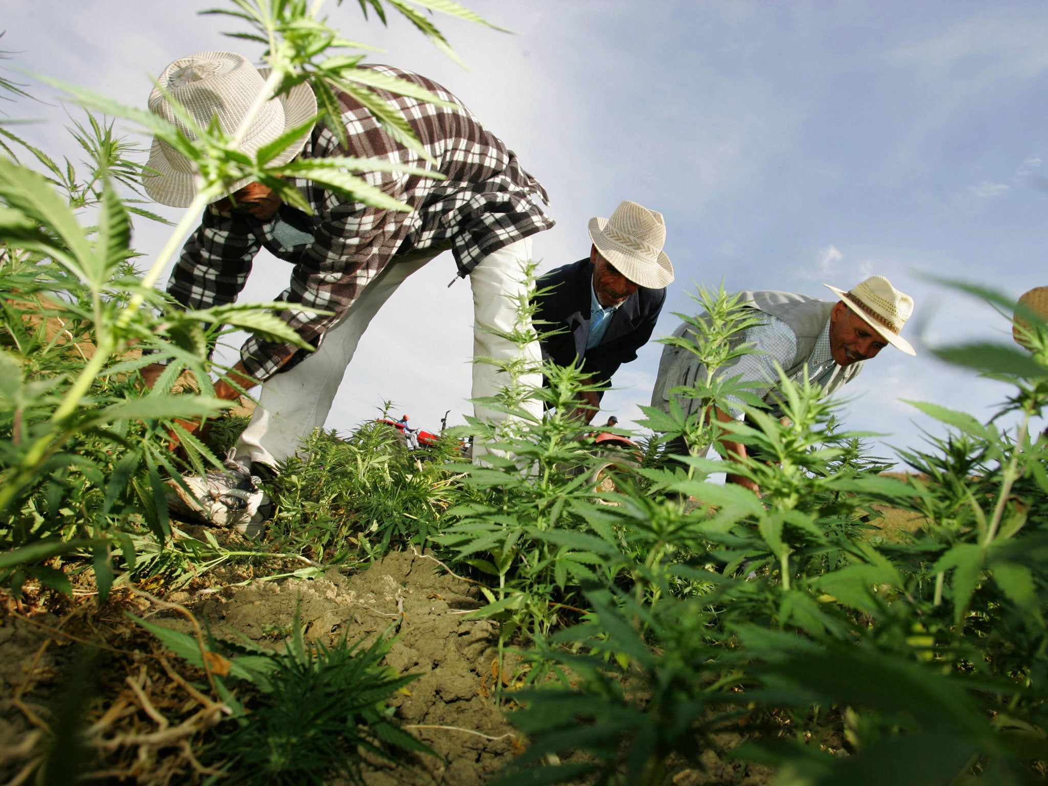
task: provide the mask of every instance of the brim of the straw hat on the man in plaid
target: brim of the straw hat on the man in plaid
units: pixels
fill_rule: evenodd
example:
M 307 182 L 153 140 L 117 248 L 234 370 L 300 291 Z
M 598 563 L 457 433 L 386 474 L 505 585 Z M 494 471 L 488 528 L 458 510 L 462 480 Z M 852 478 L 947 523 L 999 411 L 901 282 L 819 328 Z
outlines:
M 269 68 L 259 68 L 258 71 L 262 79 L 269 78 Z M 316 96 L 313 95 L 312 88 L 306 82 L 296 85 L 286 93 L 278 95 L 276 100 L 280 102 L 284 109 L 284 128 L 281 129 L 280 133 L 284 133 L 296 126 L 301 126 L 310 117 L 316 116 Z M 296 139 L 287 150 L 270 160 L 268 166 L 279 167 L 294 158 L 294 156 L 302 152 L 302 148 L 305 146 L 311 132 L 312 129 L 310 128 L 301 138 Z M 254 153 L 255 150 L 247 149 L 243 152 Z M 172 165 L 173 157 L 177 158 L 181 165 L 180 167 Z M 189 208 L 192 204 L 197 194 L 196 169 L 190 165 L 185 156 L 167 143 L 154 137 L 146 167 L 148 170 L 143 177 L 143 187 L 151 199 L 169 208 Z M 212 203 L 239 191 L 254 179 L 253 177 L 245 177 L 237 180 L 212 199 Z

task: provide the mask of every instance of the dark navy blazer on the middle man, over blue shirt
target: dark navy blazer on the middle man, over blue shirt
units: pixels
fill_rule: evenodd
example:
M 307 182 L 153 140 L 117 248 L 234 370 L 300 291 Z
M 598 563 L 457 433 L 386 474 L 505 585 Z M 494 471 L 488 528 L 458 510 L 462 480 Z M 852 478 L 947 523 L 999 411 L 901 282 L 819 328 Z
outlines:
M 536 329 L 540 333 L 558 328 L 564 330 L 542 341 L 544 359 L 567 366 L 581 357 L 583 370 L 593 377 L 593 381 L 607 385 L 618 367 L 636 359 L 637 350 L 651 339 L 665 302 L 665 289 L 637 289 L 615 309 L 601 343 L 587 350 L 592 280 L 593 265 L 589 257 L 540 278 L 539 289 L 553 287 L 553 290 L 539 296 L 534 319 L 550 324 L 538 324 Z

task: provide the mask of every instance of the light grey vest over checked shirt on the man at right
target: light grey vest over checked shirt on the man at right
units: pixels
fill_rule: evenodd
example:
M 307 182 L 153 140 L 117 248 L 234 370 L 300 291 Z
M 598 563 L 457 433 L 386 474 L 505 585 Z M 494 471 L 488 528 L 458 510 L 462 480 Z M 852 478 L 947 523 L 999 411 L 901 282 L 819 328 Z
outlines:
M 820 300 L 807 294 L 795 294 L 793 292 L 780 292 L 774 289 L 761 289 L 757 291 L 742 292 L 741 301 L 750 308 L 776 316 L 789 327 L 796 336 L 796 354 L 792 361 L 784 364 L 783 370 L 787 376 L 801 371 L 804 365 L 811 357 L 811 352 L 815 348 L 823 328 L 826 327 L 827 320 L 830 319 L 830 311 L 836 305 L 836 301 Z M 700 319 L 707 316 L 704 312 Z M 692 326 L 686 322 L 673 331 L 675 336 L 687 335 L 696 341 Z M 734 345 L 742 343 L 743 336 L 739 335 L 733 340 Z M 733 362 L 734 364 L 734 362 Z M 729 368 L 730 365 L 723 367 Z M 839 374 L 826 386 L 824 395 L 829 395 L 848 384 L 863 369 L 864 362 L 853 363 L 847 366 Z M 658 364 L 658 377 L 655 380 L 655 389 L 652 391 L 652 407 L 657 407 L 663 412 L 670 410 L 670 393 L 672 388 L 678 386 L 693 385 L 699 374 L 704 374 L 705 369 L 699 358 L 686 349 L 667 346 L 662 350 L 662 357 Z M 769 401 L 772 391 L 764 397 Z M 687 398 L 678 399 L 684 412 L 692 414 L 701 406 L 701 399 Z M 769 401 L 770 402 L 770 401 Z

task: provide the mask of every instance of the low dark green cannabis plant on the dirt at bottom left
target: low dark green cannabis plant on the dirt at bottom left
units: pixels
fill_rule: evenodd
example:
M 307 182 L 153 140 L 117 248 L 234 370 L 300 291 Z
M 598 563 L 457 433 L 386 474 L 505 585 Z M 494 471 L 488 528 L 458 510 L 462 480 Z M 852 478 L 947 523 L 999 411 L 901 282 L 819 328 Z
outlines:
M 433 752 L 392 720 L 386 704 L 415 678 L 380 665 L 394 642 L 388 635 L 352 645 L 343 636 L 328 647 L 307 641 L 296 614 L 283 652 L 275 652 L 215 639 L 204 647 L 187 633 L 129 616 L 193 665 L 208 662 L 214 690 L 232 712 L 205 746 L 225 783 L 297 786 L 334 776 L 363 783 L 362 751 L 394 763 L 406 752 Z

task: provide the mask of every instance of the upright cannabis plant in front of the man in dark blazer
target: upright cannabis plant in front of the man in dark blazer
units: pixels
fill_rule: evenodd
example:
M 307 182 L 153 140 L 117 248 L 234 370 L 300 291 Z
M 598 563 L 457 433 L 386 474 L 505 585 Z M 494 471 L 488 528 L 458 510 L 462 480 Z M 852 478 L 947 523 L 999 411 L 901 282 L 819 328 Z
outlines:
M 522 271 L 529 285 L 533 271 L 533 265 Z M 512 337 L 520 346 L 536 335 L 533 307 L 530 294 L 518 303 Z M 586 387 L 582 371 L 544 364 L 538 370 L 548 385 L 536 389 L 525 381 L 537 369 L 523 352 L 495 365 L 514 381 L 481 403 L 511 417 L 497 424 L 467 418 L 461 431 L 492 453 L 485 463 L 462 470 L 460 485 L 450 489 L 455 504 L 445 528 L 434 540 L 492 583 L 481 588 L 488 604 L 476 615 L 500 624 L 500 643 L 518 630 L 541 641 L 561 609 L 570 610 L 582 582 L 597 573 L 613 581 L 628 561 L 594 492 L 603 460 L 573 415 Z M 524 409 L 528 399 L 541 401 L 546 415 Z

